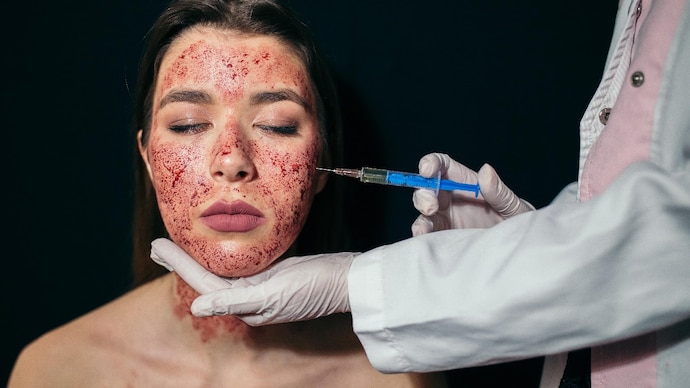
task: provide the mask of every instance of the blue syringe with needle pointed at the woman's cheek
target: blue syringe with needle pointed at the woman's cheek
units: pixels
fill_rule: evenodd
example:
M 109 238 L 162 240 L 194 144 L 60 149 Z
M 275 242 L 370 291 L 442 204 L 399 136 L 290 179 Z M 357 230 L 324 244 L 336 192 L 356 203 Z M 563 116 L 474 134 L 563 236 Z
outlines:
M 362 167 L 357 170 L 354 168 L 321 168 L 317 170 L 332 172 L 337 175 L 348 176 L 350 178 L 357 178 L 365 183 L 378 183 L 380 185 L 414 187 L 417 189 L 430 189 L 438 194 L 439 190 L 463 190 L 471 191 L 474 196 L 479 196 L 479 184 L 459 183 L 449 179 L 441 179 L 439 173 L 436 177 L 425 178 L 419 174 L 409 172 L 400 172 L 392 170 L 383 170 L 379 168 Z

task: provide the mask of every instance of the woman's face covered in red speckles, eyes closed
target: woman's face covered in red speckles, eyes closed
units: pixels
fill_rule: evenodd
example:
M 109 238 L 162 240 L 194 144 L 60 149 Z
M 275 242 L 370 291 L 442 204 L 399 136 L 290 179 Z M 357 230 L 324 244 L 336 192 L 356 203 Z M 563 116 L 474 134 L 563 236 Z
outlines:
M 308 73 L 275 38 L 195 28 L 161 62 L 141 145 L 172 239 L 226 277 L 292 245 L 325 175 Z

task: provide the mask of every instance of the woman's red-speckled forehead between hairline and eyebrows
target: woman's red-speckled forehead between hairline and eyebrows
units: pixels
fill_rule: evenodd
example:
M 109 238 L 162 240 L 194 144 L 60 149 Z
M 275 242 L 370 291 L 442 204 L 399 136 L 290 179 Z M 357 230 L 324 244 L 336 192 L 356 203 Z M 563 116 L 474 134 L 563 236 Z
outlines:
M 287 82 L 305 86 L 306 68 L 293 49 L 277 38 L 211 27 L 192 28 L 178 36 L 163 57 L 159 89 L 171 83 Z

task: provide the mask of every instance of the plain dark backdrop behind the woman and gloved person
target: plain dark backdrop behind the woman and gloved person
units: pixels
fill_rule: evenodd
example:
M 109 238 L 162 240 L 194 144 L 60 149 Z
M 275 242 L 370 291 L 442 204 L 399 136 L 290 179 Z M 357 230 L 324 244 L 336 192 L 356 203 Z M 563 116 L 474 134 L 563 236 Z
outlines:
M 445 152 L 474 169 L 492 163 L 537 207 L 576 179 L 578 124 L 603 69 L 615 0 L 291 2 L 338 76 L 346 167 L 416 171 L 422 155 Z M 4 378 L 29 341 L 129 286 L 129 87 L 164 6 L 6 8 L 16 25 L 3 27 Z M 351 193 L 353 249 L 410 236 L 411 190 L 356 183 Z M 498 372 L 516 383 L 539 368 L 528 360 L 461 377 Z

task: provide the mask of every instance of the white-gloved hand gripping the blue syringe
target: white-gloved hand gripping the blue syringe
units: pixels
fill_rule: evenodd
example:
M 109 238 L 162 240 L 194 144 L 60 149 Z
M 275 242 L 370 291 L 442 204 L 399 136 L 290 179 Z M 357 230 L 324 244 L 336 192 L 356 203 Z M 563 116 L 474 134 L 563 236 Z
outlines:
M 479 183 L 480 194 L 462 191 L 415 190 L 414 207 L 422 213 L 412 224 L 412 235 L 445 229 L 488 228 L 508 217 L 534 210 L 534 206 L 520 199 L 498 177 L 496 170 L 484 164 L 479 172 L 440 153 L 425 155 L 419 160 L 419 173 L 431 177 L 441 172 L 441 178 L 457 182 Z

